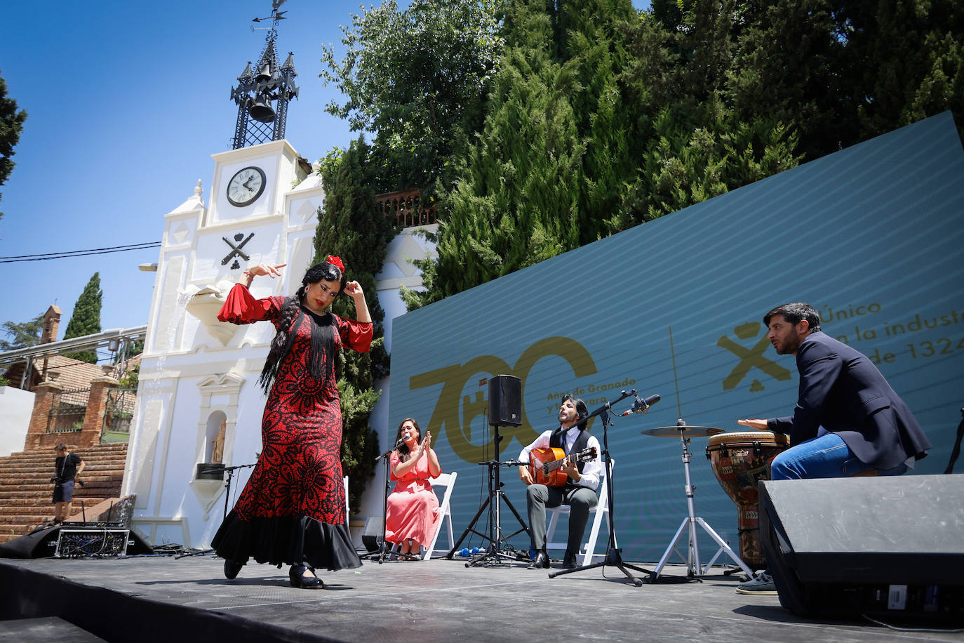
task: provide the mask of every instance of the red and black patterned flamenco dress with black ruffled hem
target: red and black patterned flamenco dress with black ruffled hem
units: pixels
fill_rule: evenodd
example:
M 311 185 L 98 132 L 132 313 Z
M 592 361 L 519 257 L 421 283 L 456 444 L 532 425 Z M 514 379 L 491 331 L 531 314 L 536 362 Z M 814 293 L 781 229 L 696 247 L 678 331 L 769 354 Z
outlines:
M 222 321 L 268 320 L 278 327 L 283 297 L 254 299 L 235 285 L 219 313 Z M 335 350 L 361 353 L 372 325 L 332 313 Z M 341 406 L 334 372 L 315 378 L 308 367 L 312 325 L 329 320 L 301 308 L 292 323 L 291 348 L 281 361 L 261 419 L 261 455 L 237 504 L 211 541 L 218 555 L 244 564 L 305 564 L 330 571 L 360 567 L 345 512 L 341 473 Z M 322 355 L 328 373 L 334 351 Z

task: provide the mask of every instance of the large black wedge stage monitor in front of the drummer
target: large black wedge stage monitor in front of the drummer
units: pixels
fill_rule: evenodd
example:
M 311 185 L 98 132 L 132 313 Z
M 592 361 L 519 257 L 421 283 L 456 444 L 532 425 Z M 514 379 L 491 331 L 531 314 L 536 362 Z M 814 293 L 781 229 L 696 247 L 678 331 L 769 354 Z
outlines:
M 964 474 L 759 489 L 763 556 L 795 614 L 964 618 Z

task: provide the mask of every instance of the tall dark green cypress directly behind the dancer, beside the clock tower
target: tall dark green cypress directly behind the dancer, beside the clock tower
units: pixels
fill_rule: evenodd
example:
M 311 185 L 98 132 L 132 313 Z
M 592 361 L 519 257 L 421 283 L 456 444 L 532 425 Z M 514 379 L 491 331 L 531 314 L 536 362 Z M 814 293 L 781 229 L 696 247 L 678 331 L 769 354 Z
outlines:
M 341 351 L 337 365 L 341 398 L 341 467 L 350 478 L 351 504 L 359 506 L 362 493 L 375 467 L 378 434 L 369 425 L 371 410 L 380 396 L 375 380 L 388 376 L 385 350 L 385 310 L 378 302 L 375 275 L 381 272 L 388 241 L 395 234 L 389 221 L 375 205 L 379 165 L 363 138 L 342 153 L 329 155 L 321 174 L 325 187 L 324 209 L 318 213 L 313 263 L 327 255 L 341 257 L 348 279 L 358 281 L 374 325 L 368 353 Z M 339 297 L 332 306 L 339 316 L 356 317 L 351 297 Z

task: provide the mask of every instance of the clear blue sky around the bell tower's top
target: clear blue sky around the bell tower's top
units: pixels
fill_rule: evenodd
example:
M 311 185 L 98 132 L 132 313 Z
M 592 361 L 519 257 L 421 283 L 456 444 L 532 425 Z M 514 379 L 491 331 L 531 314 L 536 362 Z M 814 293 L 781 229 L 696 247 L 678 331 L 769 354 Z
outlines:
M 281 60 L 294 52 L 301 88 L 285 138 L 309 161 L 356 137 L 325 113 L 340 96 L 318 73 L 322 45 L 334 42 L 343 53 L 339 25 L 359 7 L 343 0 L 282 7 L 288 19 L 279 24 L 278 52 Z M 229 149 L 234 133 L 230 89 L 264 45 L 252 18 L 270 13 L 270 0 L 5 3 L 0 75 L 28 117 L 13 174 L 0 187 L 0 257 L 160 241 L 164 215 L 199 178 L 209 201 L 211 154 Z M 101 327 L 145 324 L 154 273 L 137 266 L 157 257 L 154 248 L 0 263 L 0 322 L 27 321 L 56 303 L 63 338 L 97 272 Z

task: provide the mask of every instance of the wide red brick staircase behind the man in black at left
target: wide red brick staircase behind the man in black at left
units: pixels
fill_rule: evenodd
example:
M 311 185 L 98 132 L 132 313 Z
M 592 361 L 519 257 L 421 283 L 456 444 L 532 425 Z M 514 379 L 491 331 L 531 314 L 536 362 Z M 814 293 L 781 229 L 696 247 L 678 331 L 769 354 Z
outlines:
M 87 520 L 94 505 L 107 498 L 120 496 L 127 442 L 95 444 L 74 449 L 87 463 L 80 474 L 84 486 L 77 485 L 73 492 L 73 504 L 68 520 L 81 520 L 81 502 Z M 0 543 L 30 533 L 45 522 L 53 520 L 54 505 L 51 502 L 54 474 L 53 450 L 13 453 L 0 458 Z

